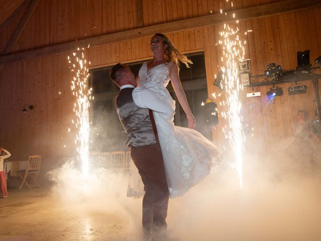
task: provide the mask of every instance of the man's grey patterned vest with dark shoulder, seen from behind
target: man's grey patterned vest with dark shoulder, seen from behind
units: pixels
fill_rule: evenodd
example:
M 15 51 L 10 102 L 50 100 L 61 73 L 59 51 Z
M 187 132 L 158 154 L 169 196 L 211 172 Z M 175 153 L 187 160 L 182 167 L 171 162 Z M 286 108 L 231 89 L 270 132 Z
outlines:
M 127 146 L 141 147 L 155 144 L 157 132 L 153 126 L 152 111 L 135 104 L 132 98 L 133 90 L 134 88 L 124 88 L 116 97 L 116 110 L 127 134 Z

